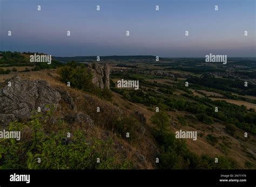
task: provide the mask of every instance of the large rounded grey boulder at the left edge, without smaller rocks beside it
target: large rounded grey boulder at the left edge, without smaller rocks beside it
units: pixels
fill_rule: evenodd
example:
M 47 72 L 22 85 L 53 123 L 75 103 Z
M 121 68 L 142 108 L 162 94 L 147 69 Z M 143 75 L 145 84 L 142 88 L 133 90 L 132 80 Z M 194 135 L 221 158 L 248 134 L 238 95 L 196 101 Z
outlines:
M 57 107 L 60 98 L 59 92 L 46 81 L 13 77 L 0 85 L 0 124 L 6 126 L 12 120 L 28 119 L 32 110 L 41 107 L 41 111 L 46 111 L 48 104 Z

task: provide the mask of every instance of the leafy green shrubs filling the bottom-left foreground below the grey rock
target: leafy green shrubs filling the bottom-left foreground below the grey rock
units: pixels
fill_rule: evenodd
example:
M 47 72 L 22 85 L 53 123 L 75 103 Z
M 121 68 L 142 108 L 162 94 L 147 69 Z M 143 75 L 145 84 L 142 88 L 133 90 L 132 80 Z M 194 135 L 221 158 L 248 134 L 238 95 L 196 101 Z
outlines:
M 23 140 L 0 140 L 0 169 L 126 169 L 132 164 L 114 152 L 112 139 L 86 139 L 82 130 L 46 132 L 52 112 L 28 123 L 12 122 L 9 131 L 29 132 Z M 66 141 L 66 132 L 72 132 Z M 27 138 L 24 138 L 26 136 Z M 38 163 L 38 158 L 41 163 Z M 97 158 L 100 162 L 97 163 Z M 122 160 L 122 162 L 120 162 Z

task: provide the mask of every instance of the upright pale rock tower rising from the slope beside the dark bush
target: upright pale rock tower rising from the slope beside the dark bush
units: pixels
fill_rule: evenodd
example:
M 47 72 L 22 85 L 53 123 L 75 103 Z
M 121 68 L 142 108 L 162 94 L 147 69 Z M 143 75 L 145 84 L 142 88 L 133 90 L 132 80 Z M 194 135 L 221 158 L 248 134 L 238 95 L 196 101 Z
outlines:
M 98 63 L 92 64 L 91 73 L 93 75 L 92 77 L 92 83 L 95 84 L 97 87 L 104 89 L 109 89 L 110 86 L 110 67 L 109 64 L 105 63 L 104 68 L 100 67 Z

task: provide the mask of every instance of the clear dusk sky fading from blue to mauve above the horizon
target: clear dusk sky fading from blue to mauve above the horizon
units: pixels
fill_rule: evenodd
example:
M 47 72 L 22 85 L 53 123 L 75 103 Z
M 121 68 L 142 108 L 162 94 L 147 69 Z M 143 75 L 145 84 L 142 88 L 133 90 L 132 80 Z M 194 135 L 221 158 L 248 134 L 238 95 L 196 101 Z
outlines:
M 0 51 L 252 57 L 255 19 L 255 0 L 0 0 Z

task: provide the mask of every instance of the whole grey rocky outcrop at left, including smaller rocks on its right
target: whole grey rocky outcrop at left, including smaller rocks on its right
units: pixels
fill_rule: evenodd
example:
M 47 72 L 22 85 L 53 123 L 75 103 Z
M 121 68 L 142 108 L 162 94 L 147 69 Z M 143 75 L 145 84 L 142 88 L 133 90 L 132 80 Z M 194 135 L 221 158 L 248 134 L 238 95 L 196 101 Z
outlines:
M 63 105 L 62 102 L 68 105 Z M 69 124 L 84 124 L 91 128 L 95 126 L 90 116 L 76 112 L 76 104 L 69 92 L 61 88 L 53 89 L 46 81 L 22 80 L 16 76 L 0 84 L 0 127 L 7 126 L 14 120 L 29 119 L 31 112 L 38 107 L 41 107 L 41 112 L 45 112 L 49 110 L 49 105 L 60 110 L 63 106 L 68 106 L 66 109 L 71 113 L 62 119 Z M 76 113 L 72 114 L 73 112 Z M 51 124 L 56 121 L 55 116 L 50 119 Z

